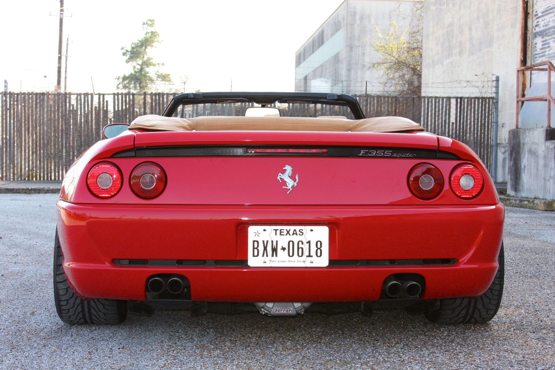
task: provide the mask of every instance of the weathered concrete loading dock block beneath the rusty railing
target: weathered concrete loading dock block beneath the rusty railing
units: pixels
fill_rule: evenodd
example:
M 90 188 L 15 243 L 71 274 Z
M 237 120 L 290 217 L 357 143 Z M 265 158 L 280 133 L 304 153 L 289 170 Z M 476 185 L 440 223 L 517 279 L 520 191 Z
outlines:
M 510 130 L 508 148 L 507 194 L 555 199 L 555 128 Z

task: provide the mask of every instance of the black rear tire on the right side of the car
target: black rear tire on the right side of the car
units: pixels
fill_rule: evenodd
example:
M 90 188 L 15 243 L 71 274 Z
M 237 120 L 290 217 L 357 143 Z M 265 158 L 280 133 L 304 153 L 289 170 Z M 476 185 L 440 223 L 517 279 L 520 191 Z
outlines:
M 490 321 L 499 310 L 503 296 L 505 253 L 503 243 L 497 257 L 499 268 L 488 290 L 478 298 L 447 298 L 440 300 L 440 308 L 426 312 L 426 318 L 438 324 L 480 323 Z

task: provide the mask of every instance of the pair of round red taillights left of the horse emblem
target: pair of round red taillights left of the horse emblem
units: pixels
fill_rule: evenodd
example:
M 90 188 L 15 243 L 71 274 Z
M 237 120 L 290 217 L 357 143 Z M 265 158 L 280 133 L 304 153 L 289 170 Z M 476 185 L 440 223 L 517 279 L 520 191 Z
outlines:
M 87 185 L 90 192 L 99 198 L 107 199 L 122 189 L 122 171 L 113 163 L 101 162 L 89 171 Z M 161 166 L 155 163 L 142 163 L 135 167 L 129 178 L 129 185 L 135 195 L 143 199 L 153 199 L 164 191 L 166 175 Z

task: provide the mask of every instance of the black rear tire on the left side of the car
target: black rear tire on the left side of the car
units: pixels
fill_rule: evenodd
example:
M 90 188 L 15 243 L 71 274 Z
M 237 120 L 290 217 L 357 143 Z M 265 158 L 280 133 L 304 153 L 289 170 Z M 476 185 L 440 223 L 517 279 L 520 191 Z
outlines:
M 60 320 L 67 324 L 117 325 L 127 318 L 127 301 L 79 298 L 65 278 L 63 256 L 58 239 L 54 239 L 54 302 Z

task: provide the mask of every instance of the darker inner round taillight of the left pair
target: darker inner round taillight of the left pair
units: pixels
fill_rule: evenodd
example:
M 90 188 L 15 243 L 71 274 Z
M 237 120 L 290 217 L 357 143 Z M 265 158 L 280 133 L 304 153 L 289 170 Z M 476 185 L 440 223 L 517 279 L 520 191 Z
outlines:
M 144 199 L 153 199 L 162 194 L 166 186 L 166 175 L 155 163 L 143 163 L 135 167 L 130 178 L 133 192 Z

